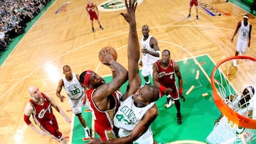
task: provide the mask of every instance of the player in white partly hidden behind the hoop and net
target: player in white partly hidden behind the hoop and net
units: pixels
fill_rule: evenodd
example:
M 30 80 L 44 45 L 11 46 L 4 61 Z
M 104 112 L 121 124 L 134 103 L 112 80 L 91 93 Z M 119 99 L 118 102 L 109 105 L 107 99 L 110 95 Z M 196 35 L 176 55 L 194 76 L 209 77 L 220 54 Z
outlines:
M 252 110 L 255 109 L 255 104 L 252 103 L 252 96 L 255 94 L 255 89 L 252 86 L 246 87 L 241 95 L 231 95 L 227 101 L 227 104 L 234 111 L 238 111 L 241 115 L 251 116 Z M 220 118 L 216 120 L 213 131 L 206 138 L 206 142 L 209 144 L 217 143 L 250 143 L 255 137 L 256 130 L 243 128 L 230 121 L 227 117 L 221 114 Z M 242 137 L 242 138 L 241 138 Z

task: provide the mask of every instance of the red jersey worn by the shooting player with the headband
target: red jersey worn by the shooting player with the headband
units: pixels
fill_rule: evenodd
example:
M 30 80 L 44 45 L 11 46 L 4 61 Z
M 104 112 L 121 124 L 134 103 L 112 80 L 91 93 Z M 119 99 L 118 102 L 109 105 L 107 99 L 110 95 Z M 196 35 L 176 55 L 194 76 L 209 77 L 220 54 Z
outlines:
M 105 131 L 110 131 L 114 127 L 113 125 L 113 118 L 114 114 L 118 110 L 118 107 L 120 105 L 120 96 L 122 94 L 118 91 L 115 91 L 112 96 L 114 97 L 115 106 L 113 109 L 110 109 L 108 111 L 100 111 L 100 109 L 97 109 L 97 106 L 95 105 L 95 102 L 92 100 L 92 94 L 95 92 L 95 89 L 87 89 L 86 94 L 88 101 L 90 103 L 90 110 L 92 111 L 92 116 L 95 119 L 95 131 L 98 135 L 100 135 L 101 140 L 107 140 Z

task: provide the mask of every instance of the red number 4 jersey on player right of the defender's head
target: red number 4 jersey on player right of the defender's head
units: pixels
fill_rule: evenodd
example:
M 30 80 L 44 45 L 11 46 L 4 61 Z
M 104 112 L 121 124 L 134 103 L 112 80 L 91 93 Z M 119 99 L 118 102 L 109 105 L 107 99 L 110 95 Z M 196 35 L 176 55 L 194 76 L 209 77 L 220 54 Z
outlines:
M 175 87 L 176 79 L 174 74 L 174 62 L 170 60 L 170 63 L 167 67 L 162 67 L 159 64 L 159 61 L 155 62 L 156 69 L 159 72 L 158 78 L 161 86 L 164 87 Z

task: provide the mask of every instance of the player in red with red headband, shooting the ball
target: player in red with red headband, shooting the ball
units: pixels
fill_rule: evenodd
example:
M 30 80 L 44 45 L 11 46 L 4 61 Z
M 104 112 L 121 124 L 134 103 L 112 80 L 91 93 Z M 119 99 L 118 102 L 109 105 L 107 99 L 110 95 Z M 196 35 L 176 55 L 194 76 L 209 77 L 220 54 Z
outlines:
M 95 120 L 95 131 L 100 135 L 101 140 L 116 138 L 112 128 L 114 114 L 119 106 L 119 87 L 128 79 L 127 70 L 113 60 L 112 55 L 102 49 L 103 64 L 112 68 L 113 79 L 106 83 L 100 75 L 91 70 L 86 70 L 80 74 L 80 82 L 85 87 L 90 110 Z

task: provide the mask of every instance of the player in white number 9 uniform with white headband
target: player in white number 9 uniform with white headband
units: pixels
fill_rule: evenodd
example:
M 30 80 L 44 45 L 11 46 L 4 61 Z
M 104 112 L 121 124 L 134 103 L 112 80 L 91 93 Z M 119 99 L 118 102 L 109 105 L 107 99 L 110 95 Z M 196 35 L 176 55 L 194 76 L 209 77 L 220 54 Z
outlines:
M 238 22 L 238 26 L 235 29 L 233 37 L 231 38 L 231 42 L 233 43 L 234 37 L 238 33 L 235 56 L 237 56 L 239 52 L 242 55 L 245 54 L 245 51 L 247 50 L 247 45 L 248 47 L 250 47 L 252 25 L 248 22 L 248 19 L 249 17 L 247 16 L 247 14 L 245 14 L 245 16 L 243 16 L 243 21 Z M 233 66 L 237 66 L 236 60 L 233 60 Z

